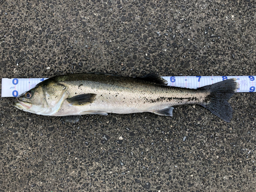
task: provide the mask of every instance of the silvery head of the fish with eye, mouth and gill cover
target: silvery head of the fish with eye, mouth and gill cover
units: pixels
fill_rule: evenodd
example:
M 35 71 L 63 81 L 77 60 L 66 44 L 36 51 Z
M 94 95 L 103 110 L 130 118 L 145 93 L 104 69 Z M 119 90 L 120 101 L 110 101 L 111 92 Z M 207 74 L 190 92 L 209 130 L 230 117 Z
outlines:
M 16 97 L 13 105 L 19 110 L 50 116 L 60 109 L 63 100 L 68 96 L 67 88 L 62 84 L 41 82 L 35 88 Z

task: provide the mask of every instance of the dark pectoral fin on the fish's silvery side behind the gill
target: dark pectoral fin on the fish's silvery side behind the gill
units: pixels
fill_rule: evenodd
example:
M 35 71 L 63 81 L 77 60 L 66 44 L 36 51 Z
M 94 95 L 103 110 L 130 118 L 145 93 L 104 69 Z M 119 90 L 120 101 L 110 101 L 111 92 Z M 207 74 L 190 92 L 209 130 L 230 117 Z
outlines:
M 67 101 L 70 102 L 70 104 L 72 105 L 84 105 L 84 104 L 92 103 L 95 97 L 96 97 L 96 94 L 87 93 L 87 94 L 81 94 L 81 95 L 68 98 Z

